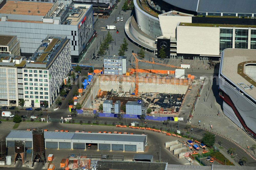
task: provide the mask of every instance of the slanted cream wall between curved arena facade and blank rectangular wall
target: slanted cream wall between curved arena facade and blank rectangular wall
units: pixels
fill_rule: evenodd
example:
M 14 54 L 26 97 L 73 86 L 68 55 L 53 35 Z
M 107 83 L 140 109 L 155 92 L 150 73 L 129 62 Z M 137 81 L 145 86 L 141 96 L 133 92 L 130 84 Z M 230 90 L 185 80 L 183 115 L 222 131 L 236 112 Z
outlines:
M 158 15 L 161 30 L 167 38 L 174 39 L 176 37 L 176 27 L 180 22 L 192 23 L 192 17 L 188 16 L 166 16 Z

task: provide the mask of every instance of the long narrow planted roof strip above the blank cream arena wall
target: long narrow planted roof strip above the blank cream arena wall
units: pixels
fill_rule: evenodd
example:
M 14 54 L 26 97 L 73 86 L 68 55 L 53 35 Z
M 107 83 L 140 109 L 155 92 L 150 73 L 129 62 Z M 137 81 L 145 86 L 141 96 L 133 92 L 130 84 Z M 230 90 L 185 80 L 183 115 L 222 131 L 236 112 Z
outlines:
M 256 25 L 231 25 L 231 24 L 184 23 L 184 22 L 181 22 L 179 26 L 256 28 Z

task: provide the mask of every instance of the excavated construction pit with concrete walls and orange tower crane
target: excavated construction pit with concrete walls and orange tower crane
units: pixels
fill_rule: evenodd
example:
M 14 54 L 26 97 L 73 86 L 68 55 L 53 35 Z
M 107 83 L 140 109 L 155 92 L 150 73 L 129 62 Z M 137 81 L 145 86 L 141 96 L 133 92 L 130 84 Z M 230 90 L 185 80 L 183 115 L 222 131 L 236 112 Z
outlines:
M 83 108 L 98 110 L 105 100 L 112 100 L 113 103 L 120 101 L 120 112 L 125 113 L 126 111 L 122 110 L 123 105 L 128 101 L 140 100 L 143 108 L 151 108 L 152 112 L 146 113 L 148 116 L 177 115 L 186 93 L 195 83 L 194 76 L 186 75 L 182 67 L 164 64 L 160 60 L 155 62 L 152 58 L 152 62 L 149 62 L 136 54 L 133 54 L 133 57 L 135 69 L 127 69 L 121 75 L 100 74 L 100 71 L 95 71 L 98 74 L 94 75 L 93 81 L 86 89 L 87 100 Z M 141 62 L 169 67 L 170 70 L 139 69 L 138 63 Z

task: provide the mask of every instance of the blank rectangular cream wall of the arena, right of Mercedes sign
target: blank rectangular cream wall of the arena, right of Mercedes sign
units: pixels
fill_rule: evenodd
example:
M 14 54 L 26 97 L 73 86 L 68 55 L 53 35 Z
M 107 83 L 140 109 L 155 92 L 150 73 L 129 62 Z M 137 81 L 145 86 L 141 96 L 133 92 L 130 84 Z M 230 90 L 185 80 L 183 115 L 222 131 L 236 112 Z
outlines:
M 177 53 L 219 55 L 220 28 L 177 26 Z

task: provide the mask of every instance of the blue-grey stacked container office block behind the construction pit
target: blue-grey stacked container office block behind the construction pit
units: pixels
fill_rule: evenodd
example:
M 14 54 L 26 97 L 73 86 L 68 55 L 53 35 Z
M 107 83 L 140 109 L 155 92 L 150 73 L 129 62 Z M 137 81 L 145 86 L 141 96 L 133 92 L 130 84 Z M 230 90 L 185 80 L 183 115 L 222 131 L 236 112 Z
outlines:
M 124 56 L 105 56 L 104 74 L 123 75 L 126 73 L 126 59 Z

